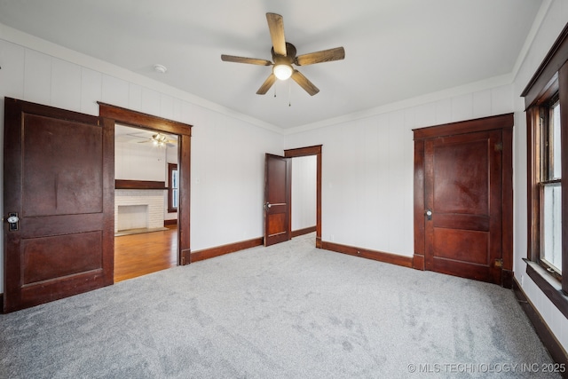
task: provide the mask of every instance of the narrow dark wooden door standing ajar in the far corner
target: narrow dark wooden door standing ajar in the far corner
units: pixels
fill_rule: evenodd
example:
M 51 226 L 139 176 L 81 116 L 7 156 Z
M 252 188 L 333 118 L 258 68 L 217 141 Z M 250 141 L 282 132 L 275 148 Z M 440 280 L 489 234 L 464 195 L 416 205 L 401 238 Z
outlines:
M 289 158 L 266 154 L 264 160 L 264 246 L 291 238 L 291 164 Z

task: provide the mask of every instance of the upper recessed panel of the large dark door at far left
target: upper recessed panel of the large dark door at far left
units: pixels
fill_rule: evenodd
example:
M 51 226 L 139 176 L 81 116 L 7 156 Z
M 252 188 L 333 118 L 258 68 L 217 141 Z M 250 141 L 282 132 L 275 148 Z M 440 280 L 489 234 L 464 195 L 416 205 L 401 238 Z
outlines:
M 101 213 L 101 127 L 81 123 L 79 131 L 76 122 L 36 114 L 23 119 L 22 216 Z

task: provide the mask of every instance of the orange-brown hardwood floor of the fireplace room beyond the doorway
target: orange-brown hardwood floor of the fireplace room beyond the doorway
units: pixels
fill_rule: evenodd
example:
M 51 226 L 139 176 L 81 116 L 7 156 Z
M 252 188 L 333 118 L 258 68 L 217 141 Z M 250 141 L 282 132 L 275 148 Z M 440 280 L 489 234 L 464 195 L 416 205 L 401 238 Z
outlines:
M 114 237 L 114 282 L 177 265 L 177 228 Z

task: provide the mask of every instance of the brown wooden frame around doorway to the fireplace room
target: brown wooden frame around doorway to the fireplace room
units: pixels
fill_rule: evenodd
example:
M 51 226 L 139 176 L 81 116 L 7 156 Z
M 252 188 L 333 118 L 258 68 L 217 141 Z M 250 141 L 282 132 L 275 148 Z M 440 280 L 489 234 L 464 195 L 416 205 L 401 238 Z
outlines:
M 176 122 L 152 114 L 143 114 L 130 109 L 99 103 L 99 115 L 145 130 L 163 131 L 177 134 L 177 170 L 179 171 L 179 204 L 177 209 L 177 265 L 190 263 L 190 167 L 191 167 L 191 135 L 193 125 Z

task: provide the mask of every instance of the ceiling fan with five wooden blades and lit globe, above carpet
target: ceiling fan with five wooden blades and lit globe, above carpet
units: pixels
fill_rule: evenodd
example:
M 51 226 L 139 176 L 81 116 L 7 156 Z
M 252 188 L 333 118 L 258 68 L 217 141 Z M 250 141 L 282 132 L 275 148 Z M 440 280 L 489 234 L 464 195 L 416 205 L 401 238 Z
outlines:
M 235 57 L 233 55 L 221 55 L 221 60 L 225 62 L 248 63 L 251 65 L 273 66 L 271 75 L 266 78 L 263 85 L 260 86 L 256 94 L 264 95 L 271 87 L 276 79 L 286 80 L 292 77 L 296 83 L 300 85 L 311 96 L 319 92 L 318 87 L 313 85 L 302 73 L 300 73 L 292 65 L 307 66 L 320 62 L 331 62 L 333 60 L 341 60 L 345 58 L 345 50 L 343 47 L 328 49 L 323 51 L 310 52 L 296 57 L 296 47 L 292 43 L 286 42 L 284 38 L 284 20 L 280 14 L 266 13 L 268 21 L 268 29 L 272 39 L 272 61 L 266 59 L 254 59 Z

